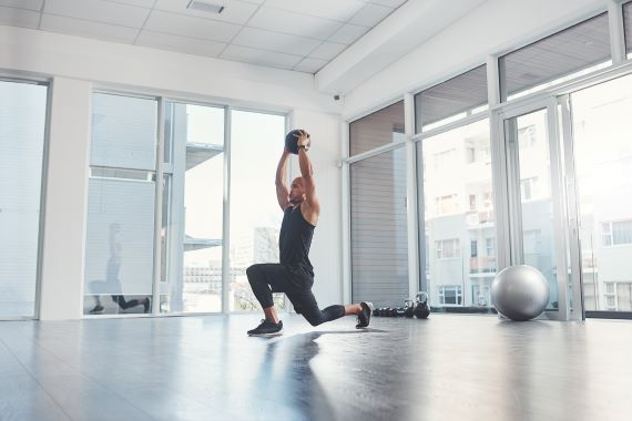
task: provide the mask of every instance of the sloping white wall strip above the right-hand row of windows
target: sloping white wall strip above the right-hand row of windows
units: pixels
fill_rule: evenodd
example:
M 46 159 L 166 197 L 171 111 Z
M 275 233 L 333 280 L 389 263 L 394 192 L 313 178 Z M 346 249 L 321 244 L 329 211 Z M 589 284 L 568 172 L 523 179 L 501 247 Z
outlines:
M 344 119 L 388 105 L 499 54 L 605 11 L 608 0 L 488 0 L 344 97 Z

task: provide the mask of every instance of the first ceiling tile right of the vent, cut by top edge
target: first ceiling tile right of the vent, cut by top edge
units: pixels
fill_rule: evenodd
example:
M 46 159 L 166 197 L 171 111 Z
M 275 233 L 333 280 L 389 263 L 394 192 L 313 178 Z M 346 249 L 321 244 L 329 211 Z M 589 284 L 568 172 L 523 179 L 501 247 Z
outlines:
M 356 14 L 365 3 L 359 0 L 318 0 L 318 1 L 296 1 L 296 0 L 267 0 L 266 8 L 283 9 L 295 13 L 308 14 L 317 18 L 325 18 L 346 22 Z

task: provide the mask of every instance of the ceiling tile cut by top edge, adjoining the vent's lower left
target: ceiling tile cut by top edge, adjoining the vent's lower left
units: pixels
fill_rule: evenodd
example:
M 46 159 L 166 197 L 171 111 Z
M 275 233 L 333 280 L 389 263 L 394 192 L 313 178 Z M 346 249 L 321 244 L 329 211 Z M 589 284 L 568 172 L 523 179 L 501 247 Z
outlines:
M 150 10 L 101 0 L 47 0 L 44 13 L 141 28 Z

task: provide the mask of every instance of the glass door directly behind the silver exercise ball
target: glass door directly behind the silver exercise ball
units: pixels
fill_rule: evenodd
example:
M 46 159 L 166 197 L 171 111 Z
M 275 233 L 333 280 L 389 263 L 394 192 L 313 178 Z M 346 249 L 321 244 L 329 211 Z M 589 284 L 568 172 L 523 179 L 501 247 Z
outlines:
M 549 281 L 549 317 L 568 319 L 563 189 L 554 100 L 501 115 L 507 265 L 538 268 Z

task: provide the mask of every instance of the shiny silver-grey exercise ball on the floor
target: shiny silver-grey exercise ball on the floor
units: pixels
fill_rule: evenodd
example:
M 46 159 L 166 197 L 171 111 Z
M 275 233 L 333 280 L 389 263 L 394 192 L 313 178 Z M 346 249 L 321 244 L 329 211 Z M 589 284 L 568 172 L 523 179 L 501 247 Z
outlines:
M 516 321 L 530 320 L 547 308 L 549 283 L 532 266 L 510 266 L 493 278 L 491 299 L 502 316 Z

